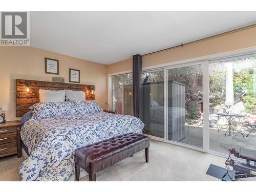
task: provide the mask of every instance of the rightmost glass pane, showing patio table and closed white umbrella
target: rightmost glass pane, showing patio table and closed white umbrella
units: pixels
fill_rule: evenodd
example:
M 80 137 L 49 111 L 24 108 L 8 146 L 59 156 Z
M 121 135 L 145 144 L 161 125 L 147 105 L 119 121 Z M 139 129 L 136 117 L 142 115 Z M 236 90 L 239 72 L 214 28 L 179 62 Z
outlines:
M 256 56 L 209 63 L 209 149 L 256 150 Z

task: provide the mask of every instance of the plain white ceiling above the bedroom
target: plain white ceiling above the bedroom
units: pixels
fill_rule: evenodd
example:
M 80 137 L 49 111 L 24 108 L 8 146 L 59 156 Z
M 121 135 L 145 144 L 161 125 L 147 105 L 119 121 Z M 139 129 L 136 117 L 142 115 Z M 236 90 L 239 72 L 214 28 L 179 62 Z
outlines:
M 30 45 L 110 64 L 256 23 L 256 12 L 30 12 Z

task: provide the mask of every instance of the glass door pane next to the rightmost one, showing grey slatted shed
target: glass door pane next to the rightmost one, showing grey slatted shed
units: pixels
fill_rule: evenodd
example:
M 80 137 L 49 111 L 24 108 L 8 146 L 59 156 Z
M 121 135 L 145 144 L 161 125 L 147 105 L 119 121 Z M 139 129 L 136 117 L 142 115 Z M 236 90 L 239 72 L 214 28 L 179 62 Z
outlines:
M 203 67 L 167 70 L 167 140 L 203 148 Z

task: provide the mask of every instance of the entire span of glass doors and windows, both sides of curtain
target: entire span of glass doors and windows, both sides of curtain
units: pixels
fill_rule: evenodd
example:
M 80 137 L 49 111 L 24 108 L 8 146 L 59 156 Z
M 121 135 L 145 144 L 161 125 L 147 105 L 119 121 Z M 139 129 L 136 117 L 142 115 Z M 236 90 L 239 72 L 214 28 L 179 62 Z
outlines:
M 111 76 L 111 103 L 133 115 L 132 73 Z M 256 150 L 256 56 L 142 72 L 143 133 L 203 152 Z

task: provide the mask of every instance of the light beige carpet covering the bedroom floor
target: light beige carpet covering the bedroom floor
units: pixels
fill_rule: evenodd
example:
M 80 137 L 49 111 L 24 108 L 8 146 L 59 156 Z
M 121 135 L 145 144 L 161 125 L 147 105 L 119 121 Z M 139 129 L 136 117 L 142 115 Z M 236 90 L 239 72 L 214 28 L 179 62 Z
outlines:
M 0 181 L 19 181 L 19 164 L 24 158 L 16 155 L 0 158 Z M 97 181 L 218 181 L 206 175 L 210 163 L 223 166 L 225 159 L 188 148 L 151 140 L 150 162 L 144 151 L 135 154 L 96 176 Z M 223 166 L 224 167 L 224 166 Z M 88 181 L 85 176 L 81 181 Z

